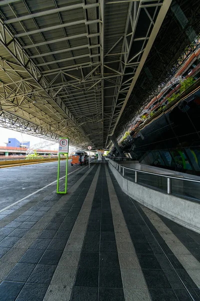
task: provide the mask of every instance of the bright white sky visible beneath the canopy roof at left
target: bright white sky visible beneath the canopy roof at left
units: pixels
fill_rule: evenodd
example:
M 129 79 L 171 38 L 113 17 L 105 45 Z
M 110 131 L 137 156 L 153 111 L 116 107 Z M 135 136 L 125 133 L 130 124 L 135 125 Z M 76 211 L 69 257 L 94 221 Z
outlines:
M 5 143 L 8 142 L 8 138 L 16 138 L 20 142 L 21 141 L 30 141 L 30 146 L 32 146 L 36 143 L 42 142 L 42 141 L 46 141 L 44 139 L 41 139 L 41 138 L 38 138 L 35 136 L 23 134 L 23 133 L 17 132 L 12 129 L 0 127 L 0 146 L 6 146 Z M 49 150 L 58 149 L 58 143 L 54 143 L 52 145 L 46 146 L 45 149 L 49 149 Z

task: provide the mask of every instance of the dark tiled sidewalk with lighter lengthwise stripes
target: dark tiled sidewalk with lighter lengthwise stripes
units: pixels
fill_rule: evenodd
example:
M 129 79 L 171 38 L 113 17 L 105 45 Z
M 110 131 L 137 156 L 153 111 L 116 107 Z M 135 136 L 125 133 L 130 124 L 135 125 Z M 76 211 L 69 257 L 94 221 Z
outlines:
M 105 163 L 0 220 L 1 301 L 200 300 L 200 235 L 125 195 Z

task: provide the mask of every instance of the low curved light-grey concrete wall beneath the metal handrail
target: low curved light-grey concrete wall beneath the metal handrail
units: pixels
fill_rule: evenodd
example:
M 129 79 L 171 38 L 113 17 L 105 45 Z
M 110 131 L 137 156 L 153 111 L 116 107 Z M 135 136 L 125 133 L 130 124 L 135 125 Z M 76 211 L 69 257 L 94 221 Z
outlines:
M 111 164 L 109 168 L 124 193 L 147 208 L 200 233 L 200 204 L 130 182 L 124 179 Z

